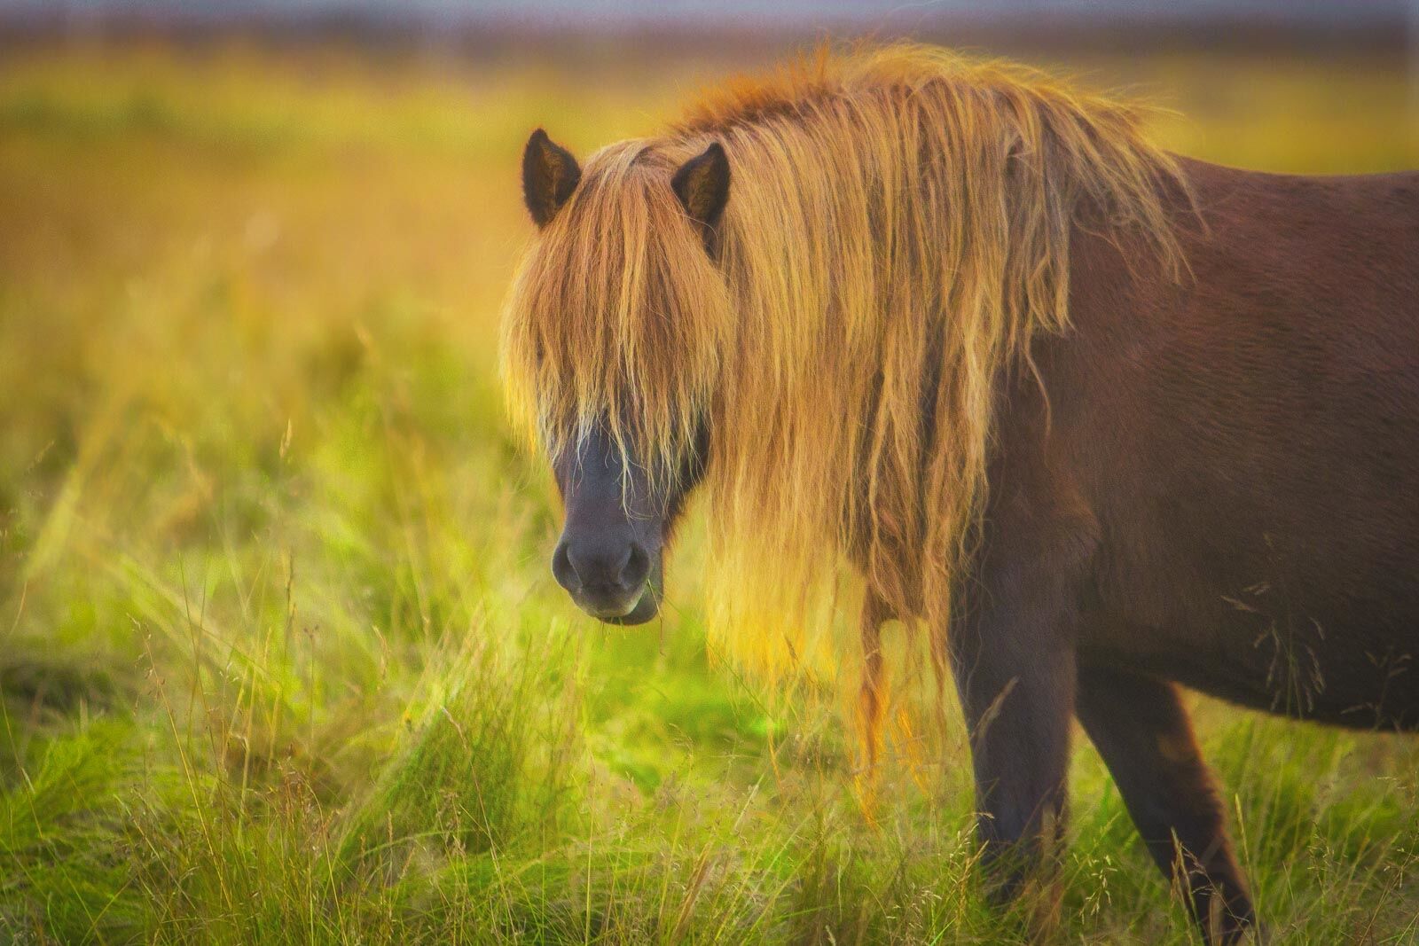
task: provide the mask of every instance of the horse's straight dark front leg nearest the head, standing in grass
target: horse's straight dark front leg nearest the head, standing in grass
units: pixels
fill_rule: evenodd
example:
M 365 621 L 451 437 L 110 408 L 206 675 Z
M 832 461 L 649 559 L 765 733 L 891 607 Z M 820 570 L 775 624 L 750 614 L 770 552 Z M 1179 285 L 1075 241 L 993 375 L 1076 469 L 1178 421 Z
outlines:
M 969 620 L 951 635 L 951 660 L 971 736 L 978 833 L 996 895 L 1010 899 L 1034 882 L 1053 888 L 1077 608 L 1059 576 L 1036 580 L 1016 567 L 983 577 Z

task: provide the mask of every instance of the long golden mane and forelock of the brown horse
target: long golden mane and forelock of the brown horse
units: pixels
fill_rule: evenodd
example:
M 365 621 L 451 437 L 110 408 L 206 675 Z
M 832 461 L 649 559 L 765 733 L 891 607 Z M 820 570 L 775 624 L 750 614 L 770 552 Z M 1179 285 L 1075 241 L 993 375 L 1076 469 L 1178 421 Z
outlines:
M 718 261 L 668 186 L 715 140 Z M 834 665 L 854 581 L 941 647 L 998 380 L 1070 325 L 1071 230 L 1176 272 L 1174 187 L 1130 105 L 921 45 L 820 51 L 587 160 L 509 296 L 511 404 L 551 448 L 609 417 L 667 478 L 708 424 L 710 624 L 738 658 Z

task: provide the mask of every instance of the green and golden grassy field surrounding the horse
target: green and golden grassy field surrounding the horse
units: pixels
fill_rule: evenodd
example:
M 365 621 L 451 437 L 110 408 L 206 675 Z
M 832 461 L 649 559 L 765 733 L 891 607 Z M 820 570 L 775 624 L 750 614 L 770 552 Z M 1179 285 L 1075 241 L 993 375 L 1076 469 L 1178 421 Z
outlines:
M 832 701 L 707 652 L 695 528 L 648 628 L 548 574 L 495 372 L 521 145 L 722 69 L 583 60 L 0 60 L 0 939 L 1022 939 L 954 716 L 868 816 Z M 1396 65 L 1069 65 L 1191 155 L 1419 166 Z M 1198 719 L 1271 942 L 1419 939 L 1419 743 Z M 1198 942 L 1083 738 L 1073 797 L 1067 940 Z

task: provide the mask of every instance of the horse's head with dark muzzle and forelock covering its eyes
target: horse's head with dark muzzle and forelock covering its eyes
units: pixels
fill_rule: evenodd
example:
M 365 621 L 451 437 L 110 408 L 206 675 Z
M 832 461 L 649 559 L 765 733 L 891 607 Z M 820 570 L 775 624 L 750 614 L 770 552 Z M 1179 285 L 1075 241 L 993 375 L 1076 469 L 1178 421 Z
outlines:
M 719 145 L 675 163 L 613 146 L 583 176 L 542 130 L 522 160 L 539 240 L 514 291 L 505 365 L 566 509 L 552 574 L 587 614 L 641 624 L 661 600 L 663 552 L 710 452 L 719 352 L 704 306 L 724 305 Z

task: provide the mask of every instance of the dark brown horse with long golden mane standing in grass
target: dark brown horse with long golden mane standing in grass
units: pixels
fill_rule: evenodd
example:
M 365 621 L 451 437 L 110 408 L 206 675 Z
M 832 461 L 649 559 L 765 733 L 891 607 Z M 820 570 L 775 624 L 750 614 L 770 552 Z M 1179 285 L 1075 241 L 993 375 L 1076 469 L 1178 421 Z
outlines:
M 885 617 L 951 668 L 1005 891 L 1063 823 L 1071 716 L 1219 942 L 1253 909 L 1178 685 L 1419 729 L 1419 174 L 1178 159 L 1127 106 L 895 47 L 585 173 L 538 132 L 524 189 L 505 359 L 558 580 L 648 620 L 698 486 L 717 621 L 802 655 L 846 563 L 868 702 Z

